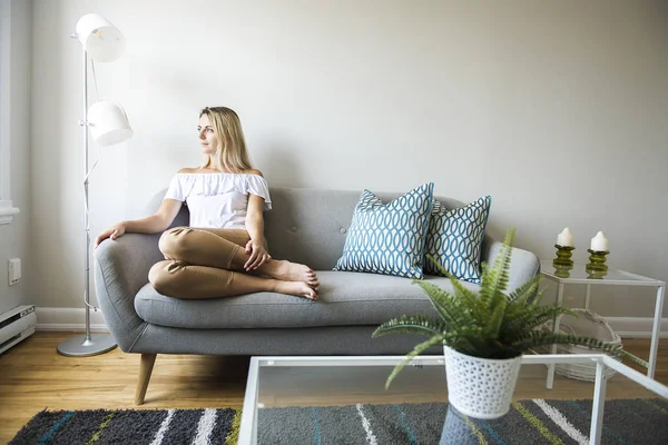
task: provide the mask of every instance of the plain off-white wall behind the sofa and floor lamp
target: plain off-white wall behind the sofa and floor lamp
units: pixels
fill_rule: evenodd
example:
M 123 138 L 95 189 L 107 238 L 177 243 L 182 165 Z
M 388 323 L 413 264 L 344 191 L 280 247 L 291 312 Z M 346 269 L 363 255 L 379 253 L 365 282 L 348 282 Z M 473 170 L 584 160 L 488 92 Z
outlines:
M 490 194 L 492 233 L 517 227 L 541 258 L 569 226 L 584 260 L 603 230 L 610 265 L 668 279 L 664 1 L 48 0 L 33 31 L 40 306 L 81 307 L 80 47 L 68 36 L 88 12 L 127 38 L 96 70 L 135 129 L 91 175 L 94 234 L 141 216 L 196 166 L 199 109 L 228 106 L 273 186 Z M 654 295 L 595 294 L 593 309 L 647 317 Z

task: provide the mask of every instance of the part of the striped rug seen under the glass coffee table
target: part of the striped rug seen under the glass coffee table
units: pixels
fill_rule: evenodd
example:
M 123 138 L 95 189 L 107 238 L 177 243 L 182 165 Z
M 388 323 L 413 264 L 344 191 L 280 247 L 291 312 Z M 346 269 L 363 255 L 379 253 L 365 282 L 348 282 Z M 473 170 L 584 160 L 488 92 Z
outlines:
M 446 415 L 448 414 L 448 415 Z M 448 404 L 261 409 L 259 444 L 589 444 L 591 399 L 521 400 L 495 421 Z M 602 444 L 668 444 L 664 399 L 606 402 Z

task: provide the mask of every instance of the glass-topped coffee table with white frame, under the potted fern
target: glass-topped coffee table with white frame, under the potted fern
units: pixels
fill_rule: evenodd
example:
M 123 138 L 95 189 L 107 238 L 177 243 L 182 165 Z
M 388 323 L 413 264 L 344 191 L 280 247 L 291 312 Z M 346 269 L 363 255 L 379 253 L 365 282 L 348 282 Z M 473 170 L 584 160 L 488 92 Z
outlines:
M 443 356 L 416 357 L 385 390 L 402 359 L 252 357 L 238 444 L 668 443 L 668 387 L 603 354 L 524 356 L 495 421 L 445 406 Z M 596 382 L 547 389 L 544 365 L 569 363 L 596 366 Z

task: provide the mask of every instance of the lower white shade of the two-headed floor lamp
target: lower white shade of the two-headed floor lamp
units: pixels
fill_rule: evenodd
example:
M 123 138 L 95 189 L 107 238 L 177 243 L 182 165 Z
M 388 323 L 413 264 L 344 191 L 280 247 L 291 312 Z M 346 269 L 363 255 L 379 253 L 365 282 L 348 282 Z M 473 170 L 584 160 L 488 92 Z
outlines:
M 109 99 L 101 99 L 90 106 L 88 129 L 92 140 L 101 146 L 120 144 L 134 134 L 122 107 Z

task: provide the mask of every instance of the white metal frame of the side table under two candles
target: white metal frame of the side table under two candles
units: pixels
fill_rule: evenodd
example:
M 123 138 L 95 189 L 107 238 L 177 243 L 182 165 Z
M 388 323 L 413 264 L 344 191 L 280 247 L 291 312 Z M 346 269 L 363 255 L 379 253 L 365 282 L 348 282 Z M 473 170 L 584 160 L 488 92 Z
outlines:
M 543 260 L 541 263 L 552 264 L 551 260 Z M 661 332 L 661 315 L 664 313 L 664 297 L 665 297 L 665 293 L 666 293 L 666 283 L 660 281 L 658 279 L 644 277 L 641 275 L 631 274 L 629 271 L 625 271 L 625 270 L 620 270 L 620 269 L 609 268 L 608 270 L 615 271 L 620 275 L 625 275 L 625 276 L 629 277 L 629 280 L 570 278 L 570 277 L 569 278 L 560 278 L 556 275 L 546 273 L 543 270 L 543 267 L 541 267 L 542 276 L 546 279 L 558 284 L 556 301 L 559 305 L 561 305 L 563 301 L 564 285 L 586 285 L 587 286 L 587 294 L 584 297 L 584 308 L 586 309 L 589 309 L 591 286 L 646 286 L 646 287 L 649 286 L 649 287 L 656 287 L 657 288 L 657 299 L 656 299 L 656 304 L 655 304 L 654 324 L 651 327 L 651 344 L 649 346 L 649 362 L 645 360 L 641 357 L 636 356 L 638 359 L 640 359 L 644 363 L 644 366 L 647 368 L 647 376 L 649 378 L 654 378 L 655 370 L 657 368 L 657 354 L 658 354 L 658 349 L 659 349 L 659 334 Z M 554 323 L 552 324 L 553 333 L 559 332 L 560 323 L 561 323 L 561 315 L 558 315 L 554 318 Z M 557 345 L 552 345 L 550 347 L 550 352 L 552 354 L 556 354 Z M 556 365 L 554 363 L 551 363 L 548 365 L 548 382 L 547 382 L 548 389 L 552 389 L 552 386 L 554 385 L 554 365 Z

